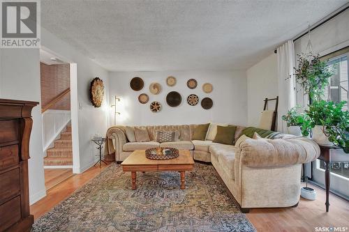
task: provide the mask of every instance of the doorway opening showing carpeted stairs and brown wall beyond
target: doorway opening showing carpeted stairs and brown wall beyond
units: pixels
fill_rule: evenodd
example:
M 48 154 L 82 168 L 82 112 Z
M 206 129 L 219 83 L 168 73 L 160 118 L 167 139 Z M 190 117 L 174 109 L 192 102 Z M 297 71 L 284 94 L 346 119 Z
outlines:
M 76 162 L 76 159 L 73 159 L 70 66 L 68 61 L 64 61 L 52 52 L 40 49 L 43 167 L 46 190 L 73 176 L 73 166 Z

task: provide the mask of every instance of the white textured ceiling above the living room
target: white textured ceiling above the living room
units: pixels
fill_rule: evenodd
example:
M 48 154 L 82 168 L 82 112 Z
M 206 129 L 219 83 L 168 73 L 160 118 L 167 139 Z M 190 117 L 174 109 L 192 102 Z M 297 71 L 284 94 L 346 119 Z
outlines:
M 347 2 L 43 0 L 41 23 L 111 71 L 231 70 Z

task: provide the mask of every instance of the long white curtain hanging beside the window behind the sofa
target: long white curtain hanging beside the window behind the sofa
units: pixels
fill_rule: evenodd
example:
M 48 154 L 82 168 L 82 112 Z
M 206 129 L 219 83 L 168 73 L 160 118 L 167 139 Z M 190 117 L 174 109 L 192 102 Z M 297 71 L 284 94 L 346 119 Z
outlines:
M 292 40 L 278 47 L 278 86 L 279 86 L 279 107 L 278 127 L 279 132 L 287 133 L 287 126 L 281 116 L 296 105 L 296 82 L 293 75 L 295 67 L 295 47 Z

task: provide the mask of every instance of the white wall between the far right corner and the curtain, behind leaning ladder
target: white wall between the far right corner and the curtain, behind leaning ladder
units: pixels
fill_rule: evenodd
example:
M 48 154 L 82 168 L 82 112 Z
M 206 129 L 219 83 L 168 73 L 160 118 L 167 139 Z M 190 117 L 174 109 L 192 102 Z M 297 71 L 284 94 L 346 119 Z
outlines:
M 277 56 L 270 54 L 246 71 L 248 125 L 258 126 L 265 98 L 275 98 L 278 94 Z M 274 109 L 274 103 L 269 105 Z

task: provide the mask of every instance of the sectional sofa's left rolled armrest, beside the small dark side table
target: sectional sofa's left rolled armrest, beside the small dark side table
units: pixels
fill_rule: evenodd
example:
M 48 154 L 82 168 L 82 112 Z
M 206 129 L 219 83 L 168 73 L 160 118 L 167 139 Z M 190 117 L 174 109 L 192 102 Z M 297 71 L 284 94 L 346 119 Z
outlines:
M 123 127 L 110 127 L 105 135 L 107 141 L 105 141 L 104 155 L 114 155 L 115 160 L 120 160 L 120 154 L 122 153 L 122 147 L 126 144 L 126 134 Z M 115 144 L 113 143 L 113 139 Z

